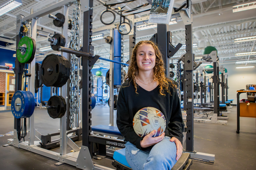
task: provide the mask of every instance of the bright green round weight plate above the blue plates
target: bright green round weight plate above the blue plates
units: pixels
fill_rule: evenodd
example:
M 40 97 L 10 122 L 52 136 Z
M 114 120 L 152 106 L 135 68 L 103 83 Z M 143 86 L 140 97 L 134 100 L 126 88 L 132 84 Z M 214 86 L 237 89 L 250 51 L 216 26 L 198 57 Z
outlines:
M 34 45 L 33 45 L 32 38 L 22 37 L 20 39 L 18 47 L 26 47 L 25 53 L 21 52 L 19 49 L 16 49 L 17 58 L 20 63 L 28 63 L 31 57 L 34 58 L 34 56 L 32 56 L 32 54 L 33 54 L 34 48 L 36 48 L 36 47 L 34 47 Z

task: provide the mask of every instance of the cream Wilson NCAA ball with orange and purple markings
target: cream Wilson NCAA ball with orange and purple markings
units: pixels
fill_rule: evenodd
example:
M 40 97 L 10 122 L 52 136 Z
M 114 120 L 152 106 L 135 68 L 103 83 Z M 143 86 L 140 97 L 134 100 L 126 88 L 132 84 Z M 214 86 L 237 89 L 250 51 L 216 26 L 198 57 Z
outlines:
M 157 130 L 153 137 L 161 135 L 166 128 L 164 114 L 154 107 L 144 107 L 134 116 L 133 129 L 139 137 L 145 137 L 151 131 Z

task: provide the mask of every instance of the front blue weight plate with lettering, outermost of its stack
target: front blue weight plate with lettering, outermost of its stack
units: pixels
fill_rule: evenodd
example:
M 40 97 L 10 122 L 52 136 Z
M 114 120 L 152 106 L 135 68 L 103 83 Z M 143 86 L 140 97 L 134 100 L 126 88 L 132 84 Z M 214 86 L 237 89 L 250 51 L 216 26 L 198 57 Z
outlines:
M 15 101 L 17 103 L 20 103 L 21 105 L 18 107 L 16 106 L 15 108 Z M 17 119 L 24 118 L 24 116 L 28 111 L 28 96 L 25 92 L 19 90 L 13 94 L 11 109 L 12 109 L 12 115 L 15 118 Z

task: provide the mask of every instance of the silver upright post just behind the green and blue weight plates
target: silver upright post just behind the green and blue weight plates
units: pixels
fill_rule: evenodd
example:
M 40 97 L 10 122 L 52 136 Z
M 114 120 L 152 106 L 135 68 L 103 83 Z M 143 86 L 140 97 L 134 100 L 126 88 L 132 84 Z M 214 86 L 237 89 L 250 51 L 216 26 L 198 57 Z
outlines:
M 30 14 L 33 13 L 33 10 L 30 10 Z M 31 32 L 30 36 L 36 40 L 36 25 L 37 20 L 36 18 L 32 18 L 31 21 Z M 36 55 L 36 54 L 35 54 Z M 31 77 L 28 79 L 28 89 L 32 92 L 33 96 L 35 96 L 35 70 L 36 70 L 36 57 L 33 61 L 29 64 L 29 69 Z M 35 129 L 34 129 L 34 122 L 35 122 L 35 114 L 32 114 L 28 119 L 29 125 L 29 145 L 34 145 L 34 138 L 35 138 Z

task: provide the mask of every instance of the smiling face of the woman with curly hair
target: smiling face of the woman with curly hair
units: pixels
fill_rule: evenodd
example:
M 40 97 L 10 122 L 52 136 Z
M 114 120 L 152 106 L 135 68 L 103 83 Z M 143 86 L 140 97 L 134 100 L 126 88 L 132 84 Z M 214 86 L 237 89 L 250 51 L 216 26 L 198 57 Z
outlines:
M 136 53 L 139 71 L 153 70 L 156 65 L 155 49 L 151 44 L 141 44 Z

